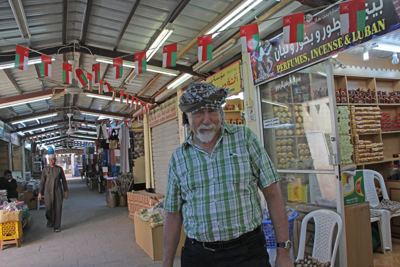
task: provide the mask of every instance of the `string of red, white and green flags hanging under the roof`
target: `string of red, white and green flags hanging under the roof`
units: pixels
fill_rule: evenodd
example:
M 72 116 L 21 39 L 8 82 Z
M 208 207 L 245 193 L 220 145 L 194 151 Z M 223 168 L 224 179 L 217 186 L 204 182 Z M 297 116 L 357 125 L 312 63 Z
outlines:
M 337 5 L 332 4 L 330 6 Z M 311 10 L 316 10 L 311 9 Z M 339 4 L 340 10 L 340 34 L 347 34 L 361 31 L 365 27 L 365 0 L 350 0 Z M 273 18 L 277 19 L 277 18 Z M 231 30 L 231 29 L 227 29 Z M 225 30 L 224 30 L 225 31 Z M 240 41 L 243 53 L 251 53 L 259 51 L 259 31 L 258 24 L 249 24 L 239 27 Z M 304 41 L 304 12 L 291 14 L 283 17 L 283 40 L 285 44 L 303 42 Z M 183 42 L 183 41 L 181 41 Z M 177 42 L 180 43 L 180 42 Z M 162 50 L 162 67 L 175 67 L 177 58 L 177 43 L 163 46 Z M 198 62 L 212 60 L 212 35 L 197 37 L 197 57 Z M 141 51 L 134 55 L 135 72 L 137 75 L 146 73 L 146 52 Z M 23 46 L 16 46 L 14 67 L 22 71 L 27 70 L 29 49 Z M 132 55 L 132 54 L 130 54 Z M 122 78 L 122 58 L 112 60 L 112 77 L 114 79 Z M 41 71 L 44 76 L 51 77 L 51 57 L 43 55 L 41 57 Z M 86 76 L 81 69 L 76 69 L 76 77 L 78 86 L 82 88 L 88 85 L 89 91 L 92 91 L 93 84 L 99 84 L 99 94 L 105 92 L 113 92 L 114 88 L 107 82 L 100 79 L 100 63 L 92 65 L 91 73 L 87 72 Z M 62 81 L 71 83 L 72 66 L 63 62 L 62 65 Z M 121 98 L 123 94 L 121 94 Z M 128 100 L 128 98 L 126 99 Z M 120 101 L 120 103 L 122 103 Z M 137 103 L 137 102 L 136 102 Z

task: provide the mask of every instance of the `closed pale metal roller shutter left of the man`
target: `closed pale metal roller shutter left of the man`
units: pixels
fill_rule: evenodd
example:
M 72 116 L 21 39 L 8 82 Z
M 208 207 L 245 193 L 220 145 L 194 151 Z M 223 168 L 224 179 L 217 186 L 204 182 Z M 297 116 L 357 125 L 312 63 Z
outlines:
M 168 163 L 173 151 L 179 146 L 178 120 L 172 119 L 151 128 L 154 191 L 165 193 Z

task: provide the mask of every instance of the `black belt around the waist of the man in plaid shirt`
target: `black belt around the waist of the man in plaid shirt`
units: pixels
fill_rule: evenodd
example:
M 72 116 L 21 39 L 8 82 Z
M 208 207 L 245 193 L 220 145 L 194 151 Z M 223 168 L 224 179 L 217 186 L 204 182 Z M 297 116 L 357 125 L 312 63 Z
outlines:
M 236 238 L 228 240 L 228 241 L 201 242 L 196 239 L 189 238 L 189 237 L 186 237 L 186 238 L 188 238 L 195 244 L 202 245 L 205 249 L 215 251 L 215 250 L 224 250 L 224 249 L 230 249 L 233 247 L 240 246 L 243 244 L 243 238 L 246 239 L 245 241 L 247 241 L 248 239 L 251 239 L 254 236 L 256 236 L 257 234 L 259 234 L 260 231 L 261 231 L 261 225 L 258 225 L 254 230 L 243 233 L 239 237 L 236 237 Z

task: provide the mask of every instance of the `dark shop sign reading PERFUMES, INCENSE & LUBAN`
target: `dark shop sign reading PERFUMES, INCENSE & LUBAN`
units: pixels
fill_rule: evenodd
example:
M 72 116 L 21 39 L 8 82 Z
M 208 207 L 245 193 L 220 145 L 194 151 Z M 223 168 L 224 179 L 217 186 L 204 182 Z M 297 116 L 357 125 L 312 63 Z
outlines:
M 249 53 L 254 86 L 399 29 L 400 9 L 392 2 L 398 1 L 366 0 L 363 31 L 341 36 L 339 5 L 334 5 L 314 15 L 312 22 L 304 22 L 304 42 L 283 44 L 282 34 L 270 40 L 269 48 Z

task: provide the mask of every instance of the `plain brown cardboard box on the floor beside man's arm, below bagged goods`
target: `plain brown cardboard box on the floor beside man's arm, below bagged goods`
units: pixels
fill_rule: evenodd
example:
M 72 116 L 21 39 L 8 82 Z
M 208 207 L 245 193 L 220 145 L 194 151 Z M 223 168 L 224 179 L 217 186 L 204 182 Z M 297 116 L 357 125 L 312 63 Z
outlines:
M 147 253 L 152 260 L 162 259 L 162 230 L 164 225 L 150 227 L 148 222 L 133 217 L 134 236 L 136 243 Z M 184 244 L 186 234 L 183 225 L 180 230 L 180 239 L 176 249 L 175 257 L 180 256 L 181 247 Z

